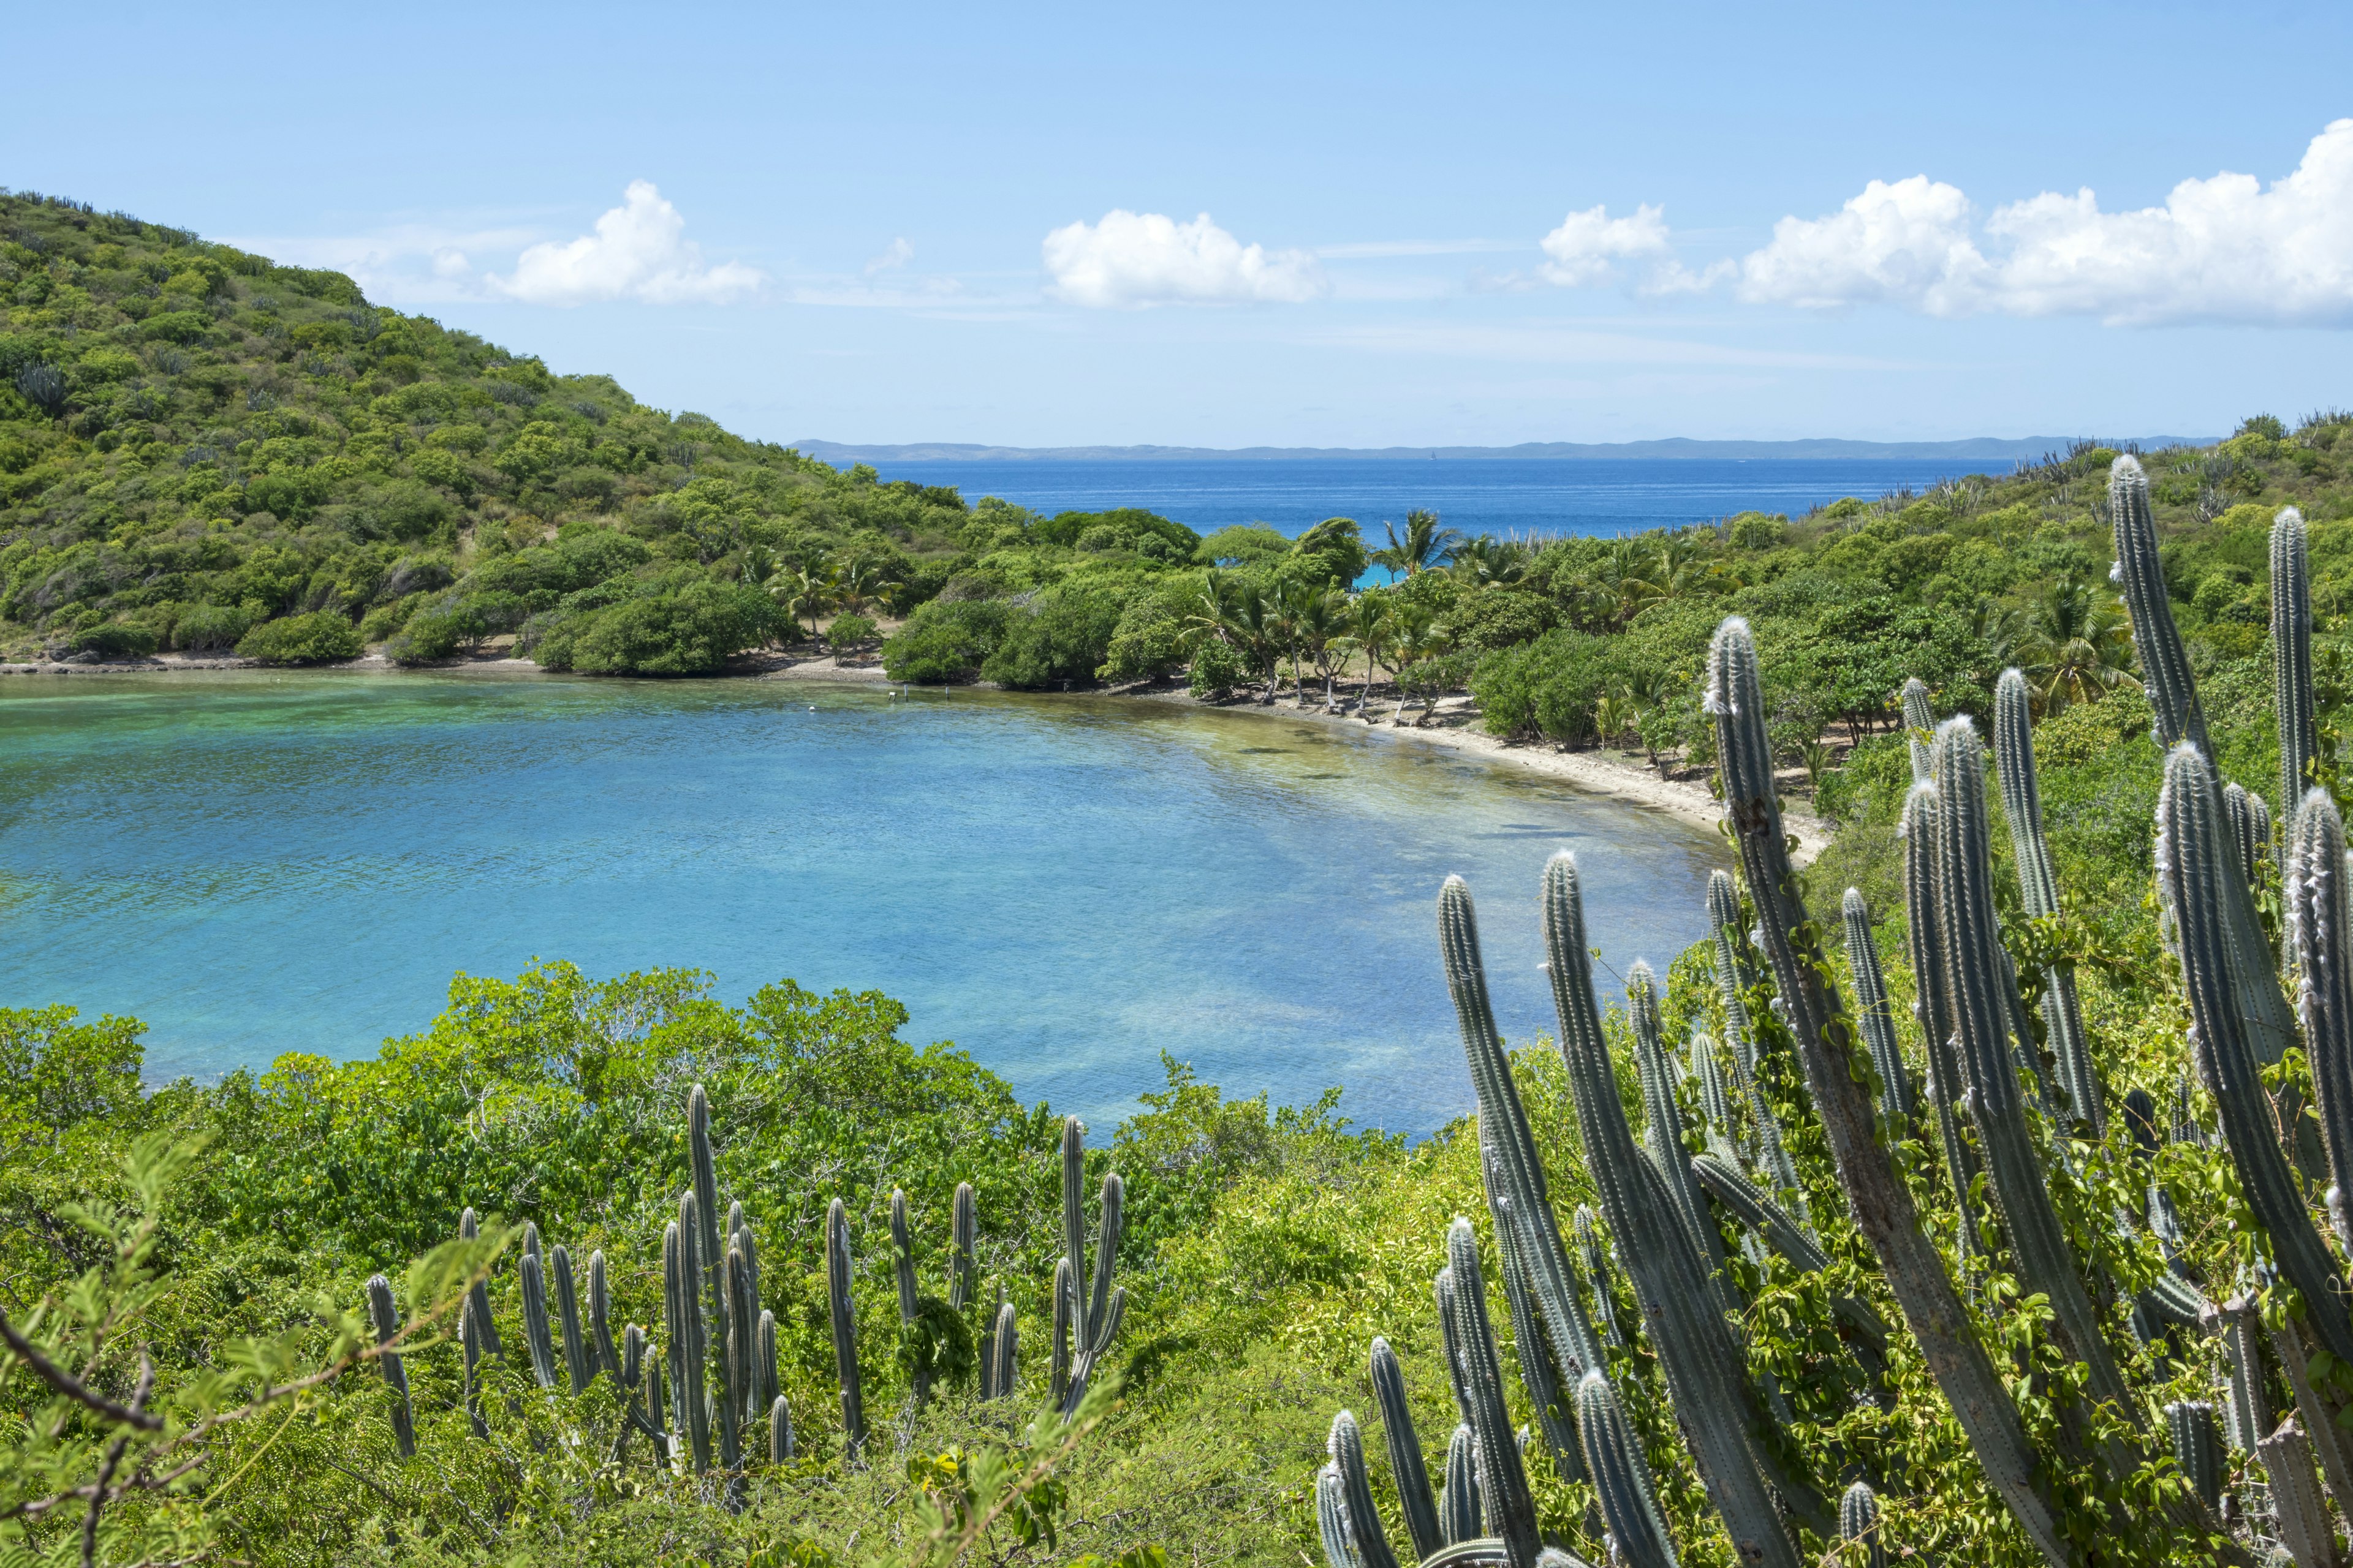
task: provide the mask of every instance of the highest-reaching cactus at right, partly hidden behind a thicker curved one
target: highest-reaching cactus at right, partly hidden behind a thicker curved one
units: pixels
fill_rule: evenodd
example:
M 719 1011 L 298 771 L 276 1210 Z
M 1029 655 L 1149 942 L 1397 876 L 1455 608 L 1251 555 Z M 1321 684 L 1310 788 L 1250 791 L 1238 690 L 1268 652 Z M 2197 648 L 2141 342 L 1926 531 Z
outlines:
M 2148 708 L 2158 719 L 2158 743 L 2165 748 L 2188 741 L 2200 757 L 2212 757 L 2207 745 L 2205 712 L 2198 708 L 2198 686 L 2191 679 L 2188 654 L 2181 649 L 2181 630 L 2174 625 L 2174 607 L 2165 595 L 2165 567 L 2158 559 L 2158 524 L 2148 512 L 2148 477 L 2132 456 L 2115 458 L 2108 470 L 2108 508 L 2115 517 L 2115 581 L 2125 588 L 2125 609 L 2132 616 L 2132 649 L 2141 658 L 2141 684 L 2148 691 Z M 2219 802 L 2217 785 L 2217 802 Z M 2219 811 L 2219 804 L 2217 804 Z M 2297 1044 L 2294 1020 L 2280 987 L 2264 985 L 2273 973 L 2271 947 L 2254 912 L 2254 896 L 2233 858 L 2228 872 L 2214 889 L 2221 900 L 2221 919 L 2228 931 L 2224 950 L 2240 971 L 2233 987 L 2242 1013 L 2247 1046 L 2257 1060 L 2271 1065 Z M 2280 1117 L 2294 1126 L 2297 1117 Z

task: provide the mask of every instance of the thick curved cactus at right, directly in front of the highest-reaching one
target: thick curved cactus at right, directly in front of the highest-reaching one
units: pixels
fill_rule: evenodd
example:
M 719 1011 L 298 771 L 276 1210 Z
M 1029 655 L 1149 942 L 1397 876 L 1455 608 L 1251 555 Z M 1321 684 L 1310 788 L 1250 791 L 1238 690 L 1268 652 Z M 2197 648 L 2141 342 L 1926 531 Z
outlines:
M 2238 964 L 2228 917 L 2233 891 L 2245 889 L 2235 886 L 2238 865 L 2228 825 L 2221 820 L 2221 790 L 2195 745 L 2177 745 L 2165 757 L 2155 860 L 2158 879 L 2174 907 L 2181 990 L 2188 994 L 2193 1020 L 2191 1053 L 2221 1112 L 2224 1143 L 2238 1166 L 2247 1206 L 2271 1234 L 2280 1274 L 2304 1295 L 2306 1326 L 2320 1338 L 2322 1349 L 2353 1361 L 2344 1279 L 2320 1232 L 2313 1229 L 2264 1095 L 2249 1027 L 2254 1009 L 2245 1004 L 2247 969 Z M 2257 980 L 2278 992 L 2268 966 Z

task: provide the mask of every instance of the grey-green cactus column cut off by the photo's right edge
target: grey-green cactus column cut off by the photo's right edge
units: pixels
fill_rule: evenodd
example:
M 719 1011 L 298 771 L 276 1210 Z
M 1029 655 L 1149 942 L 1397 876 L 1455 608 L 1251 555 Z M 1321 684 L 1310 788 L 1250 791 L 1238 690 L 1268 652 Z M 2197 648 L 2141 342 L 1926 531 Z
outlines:
M 2353 1194 L 2353 891 L 2337 802 L 2313 790 L 2289 816 L 2287 950 L 2301 973 L 2306 1058 L 2329 1161 L 2329 1220 L 2353 1251 L 2346 1197 Z

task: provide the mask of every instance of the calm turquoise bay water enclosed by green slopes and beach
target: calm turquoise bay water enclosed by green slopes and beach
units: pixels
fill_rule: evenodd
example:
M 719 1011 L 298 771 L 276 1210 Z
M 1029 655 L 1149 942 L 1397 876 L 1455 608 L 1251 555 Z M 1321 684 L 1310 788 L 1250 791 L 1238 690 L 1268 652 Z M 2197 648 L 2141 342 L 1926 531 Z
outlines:
M 1101 1133 L 1160 1051 L 1428 1131 L 1471 1086 L 1438 971 L 1482 900 L 1548 1027 L 1537 879 L 1579 851 L 1614 971 L 1704 926 L 1715 842 L 1438 748 L 1115 698 L 812 682 L 0 682 L 0 1001 L 151 1025 L 148 1074 L 365 1056 L 454 971 L 882 990 Z

